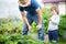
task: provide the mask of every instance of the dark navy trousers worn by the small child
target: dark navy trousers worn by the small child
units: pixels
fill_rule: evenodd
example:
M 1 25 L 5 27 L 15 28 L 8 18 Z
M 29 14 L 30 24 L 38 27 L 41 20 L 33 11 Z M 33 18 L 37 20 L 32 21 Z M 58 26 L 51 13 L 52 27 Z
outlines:
M 50 42 L 53 41 L 58 41 L 58 30 L 54 30 L 54 31 L 48 31 L 48 40 Z

